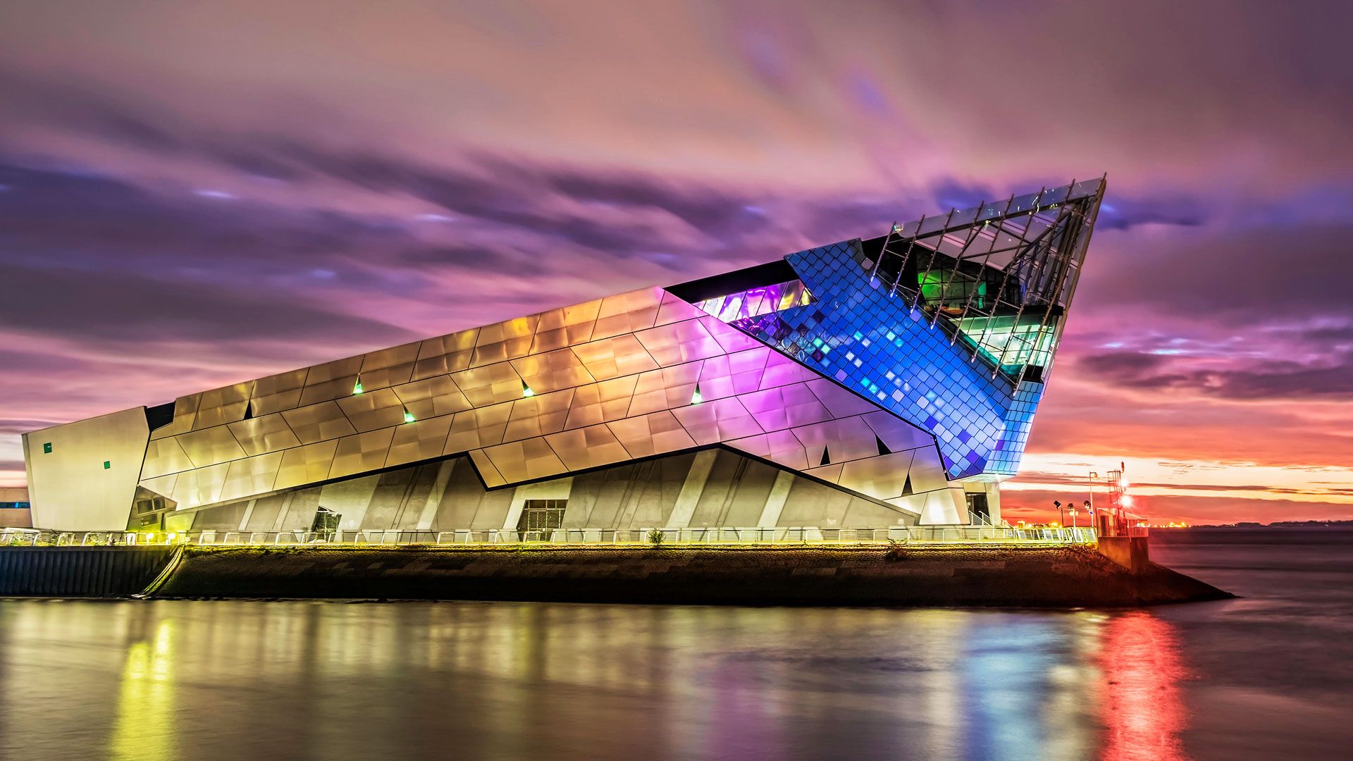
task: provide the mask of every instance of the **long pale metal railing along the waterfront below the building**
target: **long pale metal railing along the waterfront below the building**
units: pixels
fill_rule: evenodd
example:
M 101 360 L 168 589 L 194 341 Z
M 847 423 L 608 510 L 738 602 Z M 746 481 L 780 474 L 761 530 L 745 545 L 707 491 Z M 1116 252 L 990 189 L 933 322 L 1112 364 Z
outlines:
M 892 528 L 553 528 L 545 531 L 34 531 L 3 529 L 0 546 L 116 547 L 200 544 L 215 547 L 296 546 L 747 546 L 747 544 L 1093 544 L 1091 528 L 1015 528 L 999 525 Z

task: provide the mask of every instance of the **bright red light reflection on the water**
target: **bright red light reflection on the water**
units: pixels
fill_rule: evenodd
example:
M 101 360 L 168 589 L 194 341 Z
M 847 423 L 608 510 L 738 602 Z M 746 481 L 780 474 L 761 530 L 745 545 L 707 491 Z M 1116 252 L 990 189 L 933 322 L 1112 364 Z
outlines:
M 1111 617 L 1099 666 L 1107 730 L 1100 758 L 1187 760 L 1178 737 L 1188 718 L 1178 687 L 1185 669 L 1173 627 L 1145 611 Z

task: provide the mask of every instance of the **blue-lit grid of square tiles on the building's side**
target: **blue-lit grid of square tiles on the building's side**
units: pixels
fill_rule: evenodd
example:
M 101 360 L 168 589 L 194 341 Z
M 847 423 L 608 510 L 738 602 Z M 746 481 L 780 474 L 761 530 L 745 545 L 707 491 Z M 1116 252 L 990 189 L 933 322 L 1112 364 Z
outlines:
M 1042 383 L 973 362 L 920 310 L 871 280 L 858 240 L 785 257 L 819 302 L 733 322 L 935 435 L 950 478 L 1013 475 Z

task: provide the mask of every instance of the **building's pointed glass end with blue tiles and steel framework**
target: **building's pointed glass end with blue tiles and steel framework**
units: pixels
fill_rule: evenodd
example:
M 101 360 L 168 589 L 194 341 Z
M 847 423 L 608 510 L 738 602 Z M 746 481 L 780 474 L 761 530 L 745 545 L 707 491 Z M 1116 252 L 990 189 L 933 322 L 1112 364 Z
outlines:
M 950 478 L 1013 475 L 1103 180 L 790 255 L 817 303 L 733 325 L 932 432 Z

